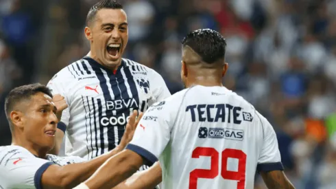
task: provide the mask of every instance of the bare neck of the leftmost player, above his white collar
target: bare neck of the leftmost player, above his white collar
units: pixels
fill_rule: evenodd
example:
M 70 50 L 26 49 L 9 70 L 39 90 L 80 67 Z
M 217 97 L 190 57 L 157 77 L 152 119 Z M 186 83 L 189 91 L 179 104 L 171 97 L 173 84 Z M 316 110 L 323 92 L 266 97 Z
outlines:
M 36 144 L 32 144 L 32 142 L 25 140 L 25 137 L 15 137 L 14 135 L 12 135 L 11 145 L 21 146 L 23 148 L 26 148 L 27 151 L 29 151 L 36 157 L 40 157 L 42 159 L 45 159 L 45 157 L 47 156 L 47 152 L 49 151 L 49 149 L 47 148 L 41 148 L 40 146 Z

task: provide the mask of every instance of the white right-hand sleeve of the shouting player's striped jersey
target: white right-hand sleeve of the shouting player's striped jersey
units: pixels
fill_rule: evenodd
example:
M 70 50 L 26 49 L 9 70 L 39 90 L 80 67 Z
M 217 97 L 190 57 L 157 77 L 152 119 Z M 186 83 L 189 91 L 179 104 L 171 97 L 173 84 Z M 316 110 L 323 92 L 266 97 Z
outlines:
M 171 96 L 171 93 L 166 85 L 165 80 L 163 80 L 163 77 L 154 70 L 152 76 L 152 86 L 155 87 L 153 91 L 153 101 L 160 102 Z

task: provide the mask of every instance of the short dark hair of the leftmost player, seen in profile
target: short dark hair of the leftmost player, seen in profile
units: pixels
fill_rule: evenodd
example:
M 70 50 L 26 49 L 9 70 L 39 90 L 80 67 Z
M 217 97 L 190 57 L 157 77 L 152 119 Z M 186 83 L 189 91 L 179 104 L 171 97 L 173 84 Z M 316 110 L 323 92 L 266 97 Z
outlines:
M 23 85 L 12 89 L 12 91 L 10 91 L 8 96 L 5 98 L 5 114 L 8 121 L 10 122 L 10 112 L 13 111 L 15 104 L 23 100 L 29 100 L 38 92 L 45 93 L 51 98 L 53 97 L 51 90 L 45 85 L 41 85 L 40 83 Z

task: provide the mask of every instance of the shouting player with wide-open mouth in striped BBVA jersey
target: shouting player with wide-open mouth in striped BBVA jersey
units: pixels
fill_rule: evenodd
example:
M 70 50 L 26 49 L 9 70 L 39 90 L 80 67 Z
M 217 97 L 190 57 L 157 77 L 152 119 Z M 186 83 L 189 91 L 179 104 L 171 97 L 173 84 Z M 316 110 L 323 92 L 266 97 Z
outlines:
M 91 52 L 64 67 L 47 86 L 69 104 L 58 124 L 66 131 L 66 155 L 92 159 L 120 143 L 133 110 L 143 112 L 170 93 L 156 71 L 122 58 L 128 20 L 121 4 L 99 1 L 88 12 L 86 24 Z M 62 137 L 56 142 L 56 154 Z

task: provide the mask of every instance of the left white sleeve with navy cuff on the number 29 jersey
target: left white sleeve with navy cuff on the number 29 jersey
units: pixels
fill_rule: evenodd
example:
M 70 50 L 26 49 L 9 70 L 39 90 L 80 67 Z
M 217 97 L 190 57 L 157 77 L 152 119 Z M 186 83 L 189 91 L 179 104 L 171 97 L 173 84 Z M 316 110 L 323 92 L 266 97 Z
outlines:
M 126 147 L 147 159 L 148 166 L 158 161 L 170 140 L 176 115 L 170 111 L 169 105 L 169 101 L 161 101 L 149 107 L 136 127 L 132 141 Z

